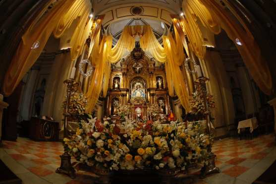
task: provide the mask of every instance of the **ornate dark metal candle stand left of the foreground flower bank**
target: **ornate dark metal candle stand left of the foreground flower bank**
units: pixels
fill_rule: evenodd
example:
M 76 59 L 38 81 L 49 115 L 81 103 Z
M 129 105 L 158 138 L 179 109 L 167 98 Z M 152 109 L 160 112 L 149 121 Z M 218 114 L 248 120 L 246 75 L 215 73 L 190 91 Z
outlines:
M 64 106 L 64 124 L 63 124 L 63 138 L 68 136 L 67 133 L 67 118 L 70 116 L 68 114 L 68 105 L 70 102 L 71 92 L 73 88 L 78 85 L 78 83 L 74 79 L 67 79 L 63 82 L 67 85 L 67 96 L 66 96 L 66 103 Z M 61 159 L 60 167 L 56 169 L 56 173 L 63 173 L 69 175 L 72 179 L 76 178 L 76 172 L 74 168 L 71 166 L 71 156 L 68 154 L 67 150 L 64 149 L 64 153 L 59 156 Z

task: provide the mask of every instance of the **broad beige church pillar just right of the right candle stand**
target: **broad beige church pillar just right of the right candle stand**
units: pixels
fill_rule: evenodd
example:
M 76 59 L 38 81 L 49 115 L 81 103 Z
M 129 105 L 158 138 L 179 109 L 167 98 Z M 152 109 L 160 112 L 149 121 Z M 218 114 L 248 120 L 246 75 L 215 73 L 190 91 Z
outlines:
M 214 95 L 216 102 L 216 108 L 212 110 L 216 136 L 224 136 L 234 123 L 234 107 L 225 67 L 219 53 L 214 51 L 207 51 L 206 60 L 201 61 L 201 64 L 204 75 L 210 79 L 208 92 Z

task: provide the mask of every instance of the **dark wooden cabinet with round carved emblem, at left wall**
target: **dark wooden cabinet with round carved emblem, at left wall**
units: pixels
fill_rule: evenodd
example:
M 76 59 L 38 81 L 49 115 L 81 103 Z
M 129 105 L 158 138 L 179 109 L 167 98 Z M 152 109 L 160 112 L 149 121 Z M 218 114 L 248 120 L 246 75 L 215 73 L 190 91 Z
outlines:
M 29 129 L 30 138 L 35 141 L 59 141 L 58 122 L 32 117 Z

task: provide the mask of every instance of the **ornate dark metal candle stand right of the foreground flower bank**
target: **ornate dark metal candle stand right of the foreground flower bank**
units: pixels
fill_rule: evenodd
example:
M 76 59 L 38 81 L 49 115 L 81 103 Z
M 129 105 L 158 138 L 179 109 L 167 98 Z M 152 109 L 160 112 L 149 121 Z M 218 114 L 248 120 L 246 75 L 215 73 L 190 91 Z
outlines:
M 207 102 L 207 88 L 206 83 L 209 81 L 207 77 L 199 77 L 195 84 L 197 85 L 198 93 L 203 98 L 204 101 L 204 111 L 206 113 L 206 125 L 207 133 L 211 136 L 211 121 L 210 121 L 210 109 Z M 207 174 L 219 173 L 220 169 L 216 167 L 215 159 L 216 155 L 212 152 L 212 146 L 209 147 L 208 151 L 210 152 L 208 165 L 205 165 L 202 169 L 202 176 L 205 177 Z

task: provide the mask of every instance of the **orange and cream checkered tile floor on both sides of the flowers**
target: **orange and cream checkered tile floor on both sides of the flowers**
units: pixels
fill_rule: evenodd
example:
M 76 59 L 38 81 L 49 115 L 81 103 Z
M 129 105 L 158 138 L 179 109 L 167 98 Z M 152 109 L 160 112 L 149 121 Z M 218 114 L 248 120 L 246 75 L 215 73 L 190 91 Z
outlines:
M 3 141 L 0 159 L 24 184 L 91 184 L 91 178 L 78 174 L 72 180 L 55 173 L 62 154 L 59 142 L 35 142 L 18 138 L 17 142 Z M 250 184 L 275 160 L 275 136 L 262 135 L 252 140 L 225 138 L 216 141 L 213 151 L 221 173 L 195 179 L 197 184 Z

